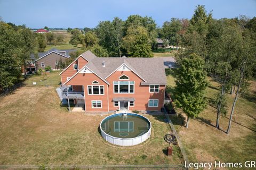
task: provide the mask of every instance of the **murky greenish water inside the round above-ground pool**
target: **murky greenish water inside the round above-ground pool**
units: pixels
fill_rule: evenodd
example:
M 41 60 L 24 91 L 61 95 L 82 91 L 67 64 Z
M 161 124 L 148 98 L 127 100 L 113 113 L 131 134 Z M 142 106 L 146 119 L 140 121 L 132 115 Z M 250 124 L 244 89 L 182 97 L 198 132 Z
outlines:
M 135 138 L 147 133 L 150 129 L 150 123 L 140 115 L 114 114 L 102 121 L 101 129 L 113 137 Z

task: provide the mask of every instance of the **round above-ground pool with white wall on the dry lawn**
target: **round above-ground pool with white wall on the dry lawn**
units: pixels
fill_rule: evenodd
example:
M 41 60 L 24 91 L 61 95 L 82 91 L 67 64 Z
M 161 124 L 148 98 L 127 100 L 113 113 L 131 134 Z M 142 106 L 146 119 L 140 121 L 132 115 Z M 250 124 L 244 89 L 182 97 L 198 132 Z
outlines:
M 151 133 L 150 121 L 141 115 L 118 113 L 107 116 L 100 123 L 102 137 L 119 146 L 133 146 L 147 140 Z

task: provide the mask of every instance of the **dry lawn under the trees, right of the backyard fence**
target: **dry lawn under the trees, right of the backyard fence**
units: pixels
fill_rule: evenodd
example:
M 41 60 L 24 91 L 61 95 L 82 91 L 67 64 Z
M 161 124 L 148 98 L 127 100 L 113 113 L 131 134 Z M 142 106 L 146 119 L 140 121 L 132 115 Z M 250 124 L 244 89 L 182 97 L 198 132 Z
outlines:
M 170 94 L 175 86 L 172 72 L 166 72 Z M 219 91 L 218 83 L 209 78 L 210 86 L 206 97 L 213 99 Z M 237 101 L 231 132 L 226 134 L 229 113 L 234 95 L 227 95 L 228 115 L 220 120 L 221 130 L 214 128 L 216 121 L 215 107 L 208 105 L 199 117 L 191 120 L 186 129 L 182 122 L 186 116 L 179 111 L 178 117 L 171 117 L 180 138 L 187 150 L 191 162 L 245 162 L 256 158 L 256 82 L 251 83 L 249 92 Z M 243 169 L 243 168 L 241 168 Z

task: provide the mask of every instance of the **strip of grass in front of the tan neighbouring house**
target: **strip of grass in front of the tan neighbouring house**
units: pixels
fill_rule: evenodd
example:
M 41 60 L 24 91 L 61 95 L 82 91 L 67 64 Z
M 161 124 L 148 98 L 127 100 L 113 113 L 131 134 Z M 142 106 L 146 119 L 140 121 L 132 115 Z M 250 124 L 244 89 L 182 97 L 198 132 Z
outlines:
M 61 82 L 60 72 L 52 71 L 50 75 L 39 75 L 39 73 L 31 75 L 26 79 L 25 84 L 26 86 L 59 86 Z M 36 82 L 36 85 L 33 82 Z

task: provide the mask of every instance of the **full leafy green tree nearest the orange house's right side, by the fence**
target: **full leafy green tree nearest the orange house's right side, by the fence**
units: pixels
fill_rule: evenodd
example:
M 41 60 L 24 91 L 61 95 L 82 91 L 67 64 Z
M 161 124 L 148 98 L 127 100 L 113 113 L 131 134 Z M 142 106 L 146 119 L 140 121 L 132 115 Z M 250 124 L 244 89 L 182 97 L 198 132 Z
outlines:
M 178 60 L 175 70 L 175 105 L 183 110 L 189 118 L 197 117 L 206 106 L 204 97 L 207 87 L 206 72 L 203 70 L 204 61 L 196 54 Z

